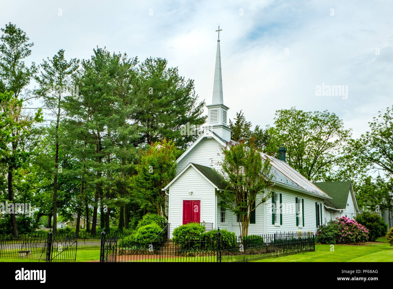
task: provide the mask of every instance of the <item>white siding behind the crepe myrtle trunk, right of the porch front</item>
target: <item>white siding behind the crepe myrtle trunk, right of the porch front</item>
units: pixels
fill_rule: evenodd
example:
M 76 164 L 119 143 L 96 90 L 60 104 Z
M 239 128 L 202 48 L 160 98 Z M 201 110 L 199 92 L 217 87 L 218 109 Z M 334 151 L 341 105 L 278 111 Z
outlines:
M 262 195 L 258 195 L 257 200 L 260 200 Z M 218 202 L 219 203 L 219 202 Z M 264 205 L 260 204 L 255 209 L 255 224 L 248 225 L 248 235 L 261 235 L 264 234 L 263 226 L 263 210 Z M 241 236 L 241 229 L 239 227 L 239 222 L 237 222 L 237 217 L 231 211 L 226 212 L 226 223 L 221 223 L 220 206 L 217 206 L 217 227 L 221 229 L 226 229 L 231 232 L 235 232 L 236 236 Z

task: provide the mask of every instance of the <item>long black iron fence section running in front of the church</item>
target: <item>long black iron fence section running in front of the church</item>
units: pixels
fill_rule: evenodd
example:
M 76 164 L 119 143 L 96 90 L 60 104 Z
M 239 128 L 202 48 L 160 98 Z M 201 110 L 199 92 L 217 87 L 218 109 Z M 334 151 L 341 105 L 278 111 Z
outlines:
M 127 242 L 102 235 L 102 262 L 246 262 L 315 251 L 314 234 L 290 232 L 243 239 L 221 236 L 208 240 L 142 240 Z

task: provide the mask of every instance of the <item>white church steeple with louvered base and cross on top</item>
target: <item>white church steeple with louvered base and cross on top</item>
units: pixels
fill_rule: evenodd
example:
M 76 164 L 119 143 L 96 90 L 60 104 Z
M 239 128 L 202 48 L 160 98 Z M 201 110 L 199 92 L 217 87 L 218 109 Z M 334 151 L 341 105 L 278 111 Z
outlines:
M 222 74 L 221 74 L 221 52 L 220 52 L 220 31 L 217 39 L 216 68 L 214 72 L 213 99 L 211 104 L 206 105 L 208 108 L 208 129 L 220 136 L 220 138 L 229 142 L 231 140 L 231 129 L 227 126 L 227 111 L 229 107 L 224 105 L 222 94 Z

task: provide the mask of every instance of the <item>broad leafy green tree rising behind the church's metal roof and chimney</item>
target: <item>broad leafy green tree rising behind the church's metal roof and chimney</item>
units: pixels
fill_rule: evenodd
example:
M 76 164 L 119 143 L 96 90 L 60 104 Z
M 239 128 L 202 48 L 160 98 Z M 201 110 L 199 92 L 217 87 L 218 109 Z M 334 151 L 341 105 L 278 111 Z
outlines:
M 274 127 L 268 127 L 270 140 L 265 152 L 278 156 L 285 144 L 286 162 L 311 181 L 325 180 L 345 155 L 344 145 L 351 130 L 334 113 L 277 110 Z

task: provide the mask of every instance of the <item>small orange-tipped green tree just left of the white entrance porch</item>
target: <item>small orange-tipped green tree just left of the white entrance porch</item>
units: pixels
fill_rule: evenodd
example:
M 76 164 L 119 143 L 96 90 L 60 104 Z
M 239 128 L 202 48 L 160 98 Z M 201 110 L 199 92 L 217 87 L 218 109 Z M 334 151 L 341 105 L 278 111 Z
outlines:
M 137 175 L 132 177 L 131 188 L 134 195 L 148 201 L 156 208 L 157 215 L 168 218 L 165 212 L 165 191 L 162 191 L 176 176 L 176 159 L 180 150 L 174 142 L 163 140 L 156 142 L 151 149 L 141 157 L 141 163 L 136 166 Z

